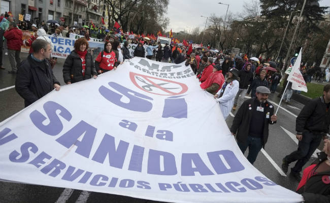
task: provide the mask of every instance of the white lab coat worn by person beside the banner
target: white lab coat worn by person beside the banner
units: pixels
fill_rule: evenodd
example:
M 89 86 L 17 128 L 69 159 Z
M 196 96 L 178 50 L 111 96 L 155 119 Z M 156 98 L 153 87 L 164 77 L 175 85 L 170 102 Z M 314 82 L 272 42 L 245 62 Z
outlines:
M 222 84 L 222 86 L 225 83 Z M 234 80 L 227 84 L 226 88 L 224 89 L 223 95 L 220 98 L 217 98 L 219 101 L 220 109 L 223 115 L 223 118 L 226 119 L 234 106 L 234 99 L 239 90 L 240 83 L 237 80 Z M 220 95 L 222 87 L 217 92 Z

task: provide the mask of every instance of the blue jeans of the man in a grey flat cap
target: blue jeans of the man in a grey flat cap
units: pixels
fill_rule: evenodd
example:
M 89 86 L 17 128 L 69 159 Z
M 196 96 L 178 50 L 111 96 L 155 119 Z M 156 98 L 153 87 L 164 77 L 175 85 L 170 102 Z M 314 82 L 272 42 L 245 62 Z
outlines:
M 253 138 L 248 136 L 247 142 L 246 143 L 237 143 L 240 150 L 244 154 L 245 150 L 247 147 L 249 147 L 249 154 L 247 156 L 247 160 L 253 165 L 255 159 L 258 156 L 259 151 L 262 148 L 262 141 L 261 138 Z

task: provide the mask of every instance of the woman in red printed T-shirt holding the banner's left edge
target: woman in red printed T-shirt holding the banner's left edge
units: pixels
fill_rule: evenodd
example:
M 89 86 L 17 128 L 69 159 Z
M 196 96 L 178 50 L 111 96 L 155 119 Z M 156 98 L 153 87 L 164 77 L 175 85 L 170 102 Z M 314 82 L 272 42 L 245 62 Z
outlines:
M 100 52 L 95 59 L 95 69 L 98 74 L 102 74 L 111 70 L 116 70 L 119 61 L 115 52 L 112 50 L 111 42 L 104 44 L 104 50 Z

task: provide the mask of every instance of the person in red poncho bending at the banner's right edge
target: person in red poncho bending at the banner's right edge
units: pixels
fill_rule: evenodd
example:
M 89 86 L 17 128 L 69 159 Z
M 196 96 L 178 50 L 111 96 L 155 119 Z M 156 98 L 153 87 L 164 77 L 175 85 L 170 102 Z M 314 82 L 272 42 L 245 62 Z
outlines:
M 204 81 L 200 86 L 212 95 L 216 94 L 224 83 L 224 77 L 221 71 L 221 65 L 217 64 L 213 66 L 213 73 L 209 78 Z

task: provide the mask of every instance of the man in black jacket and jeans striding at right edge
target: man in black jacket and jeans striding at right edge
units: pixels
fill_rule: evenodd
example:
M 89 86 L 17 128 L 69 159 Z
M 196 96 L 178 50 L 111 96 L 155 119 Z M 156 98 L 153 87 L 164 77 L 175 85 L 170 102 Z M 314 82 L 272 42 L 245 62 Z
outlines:
M 287 173 L 291 162 L 298 160 L 291 168 L 290 175 L 301 180 L 300 172 L 307 163 L 326 133 L 330 124 L 330 84 L 323 87 L 323 96 L 312 99 L 302 109 L 295 120 L 296 139 L 299 140 L 298 150 L 285 156 L 282 162 L 282 170 Z

